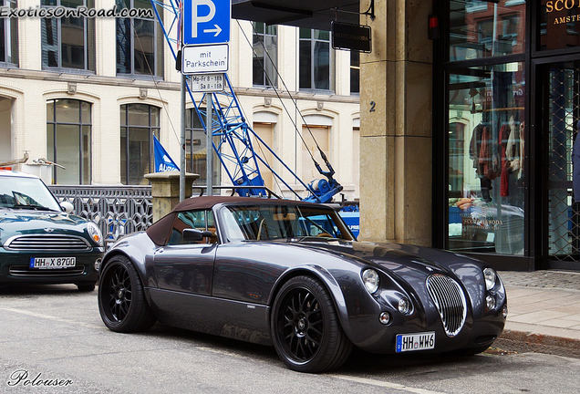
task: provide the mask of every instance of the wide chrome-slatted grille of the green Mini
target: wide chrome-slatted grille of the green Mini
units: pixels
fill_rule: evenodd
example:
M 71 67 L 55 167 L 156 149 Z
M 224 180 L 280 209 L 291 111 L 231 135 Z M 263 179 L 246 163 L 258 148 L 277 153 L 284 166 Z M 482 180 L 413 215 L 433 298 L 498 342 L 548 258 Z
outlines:
M 84 238 L 75 235 L 21 235 L 8 240 L 5 249 L 38 252 L 83 252 L 90 250 Z

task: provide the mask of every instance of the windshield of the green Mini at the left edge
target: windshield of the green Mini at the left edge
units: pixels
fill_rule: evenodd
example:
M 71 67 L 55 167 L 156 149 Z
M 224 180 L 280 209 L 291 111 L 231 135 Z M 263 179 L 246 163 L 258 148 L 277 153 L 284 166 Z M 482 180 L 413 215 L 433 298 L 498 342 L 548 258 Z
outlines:
M 39 179 L 6 176 L 0 176 L 0 208 L 61 211 L 57 200 Z

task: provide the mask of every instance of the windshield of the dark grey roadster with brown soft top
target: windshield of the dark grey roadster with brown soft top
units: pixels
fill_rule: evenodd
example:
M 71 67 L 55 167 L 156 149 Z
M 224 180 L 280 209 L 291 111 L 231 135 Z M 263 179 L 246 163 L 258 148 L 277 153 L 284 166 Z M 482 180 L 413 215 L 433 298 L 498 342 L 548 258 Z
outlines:
M 333 210 L 288 205 L 231 205 L 222 211 L 229 241 L 324 237 L 354 240 Z

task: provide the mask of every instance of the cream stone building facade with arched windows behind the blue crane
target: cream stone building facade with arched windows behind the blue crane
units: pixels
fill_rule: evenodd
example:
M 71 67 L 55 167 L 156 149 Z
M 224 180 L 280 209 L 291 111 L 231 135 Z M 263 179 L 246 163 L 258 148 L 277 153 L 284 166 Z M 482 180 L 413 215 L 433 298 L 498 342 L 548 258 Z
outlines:
M 1 3 L 16 10 L 117 4 L 152 11 L 141 0 Z M 173 17 L 159 5 L 157 11 Z M 181 76 L 154 13 L 0 22 L 0 161 L 27 151 L 31 161 L 59 164 L 51 168 L 53 183 L 145 184 L 155 136 L 179 162 Z M 306 182 L 320 178 L 307 160 L 314 144 L 307 124 L 346 198 L 357 199 L 359 98 L 350 54 L 334 51 L 325 31 L 237 20 L 231 28 L 228 75 L 248 124 Z M 186 107 L 187 171 L 200 173 L 203 183 L 204 133 L 189 98 Z M 282 172 L 281 165 L 274 170 Z M 214 172 L 218 184 L 229 185 L 223 169 Z M 274 192 L 287 192 L 268 171 L 264 179 Z

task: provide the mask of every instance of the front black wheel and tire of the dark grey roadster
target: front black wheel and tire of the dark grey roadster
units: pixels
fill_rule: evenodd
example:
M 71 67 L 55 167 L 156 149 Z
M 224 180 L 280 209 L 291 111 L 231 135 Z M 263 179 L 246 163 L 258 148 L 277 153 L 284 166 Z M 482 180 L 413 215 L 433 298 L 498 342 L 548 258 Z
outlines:
M 282 286 L 274 300 L 271 329 L 278 356 L 298 372 L 338 368 L 353 347 L 326 287 L 310 276 L 296 276 Z

